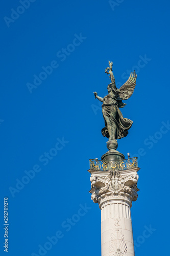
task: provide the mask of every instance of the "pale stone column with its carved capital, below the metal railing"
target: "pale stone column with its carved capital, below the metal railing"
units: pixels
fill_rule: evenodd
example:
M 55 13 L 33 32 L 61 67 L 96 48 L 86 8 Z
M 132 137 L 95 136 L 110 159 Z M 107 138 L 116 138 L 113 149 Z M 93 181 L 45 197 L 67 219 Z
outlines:
M 101 209 L 102 256 L 135 255 L 130 208 L 137 200 L 138 170 L 89 169 L 91 199 Z

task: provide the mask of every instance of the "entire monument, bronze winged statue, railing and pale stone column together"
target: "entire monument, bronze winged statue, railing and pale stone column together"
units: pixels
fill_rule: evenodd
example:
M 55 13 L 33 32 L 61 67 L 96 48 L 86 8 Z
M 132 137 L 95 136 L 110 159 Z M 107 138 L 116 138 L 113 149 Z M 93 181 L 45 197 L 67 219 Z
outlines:
M 125 159 L 116 149 L 117 140 L 128 135 L 133 123 L 124 118 L 119 109 L 126 105 L 122 100 L 129 99 L 133 94 L 137 75 L 135 71 L 131 73 L 123 86 L 117 89 L 112 67 L 113 62 L 109 61 L 105 70 L 111 80 L 107 87 L 108 95 L 100 97 L 94 92 L 95 98 L 103 102 L 105 127 L 102 135 L 109 139 L 109 151 L 102 156 L 102 160 L 90 159 L 90 193 L 93 202 L 99 203 L 101 209 L 102 256 L 134 256 L 130 208 L 132 201 L 137 200 L 139 168 L 137 158 Z

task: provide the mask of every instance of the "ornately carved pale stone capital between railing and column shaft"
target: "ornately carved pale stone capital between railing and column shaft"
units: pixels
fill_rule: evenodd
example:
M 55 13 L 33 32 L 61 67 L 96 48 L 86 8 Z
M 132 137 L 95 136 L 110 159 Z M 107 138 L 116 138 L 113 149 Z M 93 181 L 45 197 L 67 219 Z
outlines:
M 137 200 L 137 181 L 139 168 L 118 170 L 109 168 L 107 171 L 90 169 L 91 199 L 101 203 L 106 198 L 119 198 L 130 202 Z

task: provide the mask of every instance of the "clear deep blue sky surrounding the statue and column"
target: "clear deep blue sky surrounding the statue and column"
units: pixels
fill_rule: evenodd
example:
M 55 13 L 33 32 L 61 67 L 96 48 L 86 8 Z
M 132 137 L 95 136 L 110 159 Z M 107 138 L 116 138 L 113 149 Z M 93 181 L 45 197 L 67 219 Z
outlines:
M 4 197 L 9 256 L 101 254 L 100 209 L 88 193 L 87 169 L 107 151 L 93 92 L 107 93 L 108 60 L 118 88 L 130 71 L 138 75 L 122 109 L 134 123 L 118 141 L 118 151 L 139 156 L 141 168 L 132 205 L 135 253 L 167 254 L 169 2 L 21 2 L 7 0 L 0 10 L 0 254 Z M 150 226 L 156 230 L 143 238 Z M 53 236 L 58 241 L 39 254 Z

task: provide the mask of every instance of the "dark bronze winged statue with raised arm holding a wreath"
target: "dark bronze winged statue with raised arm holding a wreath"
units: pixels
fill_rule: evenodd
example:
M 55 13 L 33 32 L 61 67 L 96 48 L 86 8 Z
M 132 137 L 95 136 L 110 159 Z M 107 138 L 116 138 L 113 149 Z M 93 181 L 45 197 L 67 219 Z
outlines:
M 120 89 L 117 89 L 112 66 L 113 62 L 109 61 L 109 67 L 105 70 L 105 73 L 109 74 L 111 80 L 111 83 L 107 87 L 108 95 L 102 98 L 94 92 L 94 96 L 103 102 L 102 113 L 105 120 L 105 127 L 102 129 L 102 135 L 109 138 L 109 140 L 117 140 L 128 135 L 128 130 L 133 123 L 132 120 L 123 117 L 119 108 L 124 108 L 126 104 L 122 100 L 129 99 L 133 94 L 137 75 L 135 71 L 131 73 L 127 82 Z

